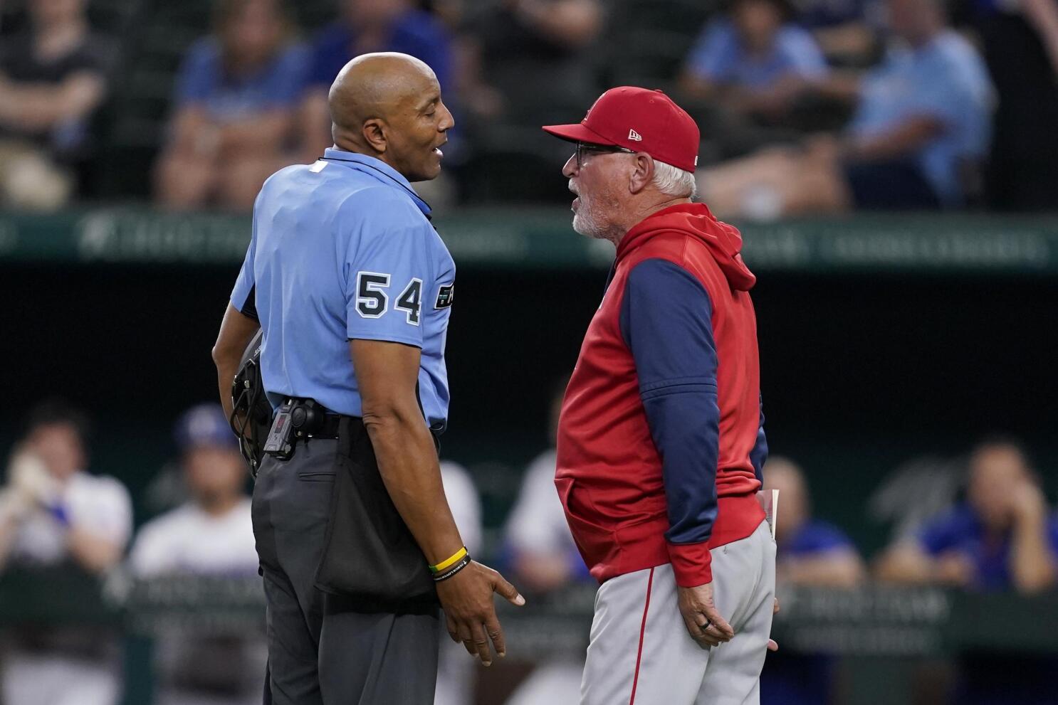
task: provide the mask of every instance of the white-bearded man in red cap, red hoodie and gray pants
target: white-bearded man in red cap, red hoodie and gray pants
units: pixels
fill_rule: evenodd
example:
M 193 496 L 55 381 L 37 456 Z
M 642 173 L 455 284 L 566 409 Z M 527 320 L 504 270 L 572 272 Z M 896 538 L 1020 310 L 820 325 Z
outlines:
M 758 703 L 776 544 L 742 239 L 692 202 L 698 128 L 660 91 L 544 129 L 577 143 L 573 228 L 617 247 L 559 422 L 555 485 L 602 583 L 581 703 Z

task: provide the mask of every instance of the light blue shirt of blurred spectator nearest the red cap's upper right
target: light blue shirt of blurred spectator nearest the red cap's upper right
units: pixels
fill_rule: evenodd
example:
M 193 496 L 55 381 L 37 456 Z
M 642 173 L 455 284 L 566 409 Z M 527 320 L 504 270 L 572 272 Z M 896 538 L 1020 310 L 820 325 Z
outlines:
M 687 67 L 697 78 L 749 90 L 766 90 L 787 74 L 820 78 L 827 71 L 823 53 L 806 30 L 785 24 L 776 34 L 771 51 L 753 56 L 746 51 L 729 20 L 706 25 L 691 50 Z

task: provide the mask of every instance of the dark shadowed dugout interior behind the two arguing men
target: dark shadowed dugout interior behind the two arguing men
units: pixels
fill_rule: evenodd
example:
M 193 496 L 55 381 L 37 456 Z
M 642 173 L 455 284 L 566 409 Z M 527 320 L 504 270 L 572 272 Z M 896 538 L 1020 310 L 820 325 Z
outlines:
M 138 497 L 175 454 L 175 418 L 215 396 L 209 348 L 236 272 L 0 262 L 0 451 L 28 406 L 62 394 L 95 419 L 92 469 Z M 546 443 L 549 390 L 571 370 L 604 280 L 600 268 L 460 267 L 442 450 L 471 467 L 493 526 Z M 865 518 L 865 499 L 915 456 L 955 456 L 1007 431 L 1053 484 L 1052 278 L 770 272 L 753 298 L 772 452 L 805 465 L 817 514 L 868 553 L 888 534 Z

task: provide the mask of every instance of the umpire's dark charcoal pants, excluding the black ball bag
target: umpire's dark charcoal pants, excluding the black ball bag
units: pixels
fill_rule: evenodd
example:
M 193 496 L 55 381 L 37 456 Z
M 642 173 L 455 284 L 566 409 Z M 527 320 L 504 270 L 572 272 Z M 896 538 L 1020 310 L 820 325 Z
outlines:
M 287 462 L 266 458 L 254 486 L 257 555 L 268 599 L 275 705 L 426 705 L 434 702 L 436 608 L 358 612 L 314 586 L 334 484 L 338 441 L 299 443 Z

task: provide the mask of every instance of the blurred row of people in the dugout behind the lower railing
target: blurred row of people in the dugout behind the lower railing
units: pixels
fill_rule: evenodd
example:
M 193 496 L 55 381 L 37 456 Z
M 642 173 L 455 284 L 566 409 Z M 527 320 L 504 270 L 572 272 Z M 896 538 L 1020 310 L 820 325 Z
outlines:
M 557 386 L 549 420 L 551 446 L 527 467 L 500 544 L 493 546 L 497 564 L 526 594 L 537 597 L 592 583 L 553 485 L 562 389 Z M 87 416 L 61 402 L 43 403 L 30 415 L 0 488 L 0 571 L 67 567 L 139 580 L 256 579 L 247 466 L 219 405 L 196 406 L 177 421 L 178 461 L 152 482 L 144 502 L 151 518 L 134 533 L 128 490 L 113 478 L 88 471 L 89 433 Z M 477 554 L 484 550 L 482 517 L 472 476 L 450 461 L 442 461 L 441 472 L 462 537 Z M 923 491 L 922 483 L 897 490 L 902 491 L 905 516 L 916 515 L 916 503 L 931 508 L 911 522 L 895 522 L 891 544 L 870 563 L 845 532 L 814 515 L 808 475 L 778 457 L 764 469 L 765 489 L 780 493 L 780 599 L 796 586 L 856 588 L 871 580 L 1022 595 L 1056 585 L 1058 515 L 1044 498 L 1032 461 L 1013 439 L 983 440 L 960 463 L 955 481 L 942 479 L 934 491 Z M 0 650 L 2 702 L 113 705 L 121 692 L 118 636 L 94 627 L 8 630 Z M 474 702 L 474 664 L 458 645 L 443 644 L 437 702 L 469 705 Z M 164 633 L 156 662 L 159 703 L 260 702 L 262 633 L 237 638 Z M 1052 702 L 1053 661 L 1018 656 L 1013 689 L 1009 673 L 995 663 L 993 654 L 960 656 L 945 702 Z M 832 702 L 836 665 L 828 654 L 769 654 L 762 703 Z M 539 662 L 507 702 L 576 702 L 582 666 L 559 655 Z

